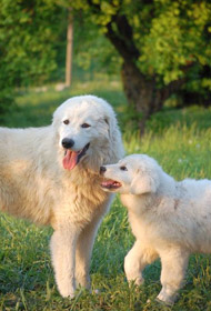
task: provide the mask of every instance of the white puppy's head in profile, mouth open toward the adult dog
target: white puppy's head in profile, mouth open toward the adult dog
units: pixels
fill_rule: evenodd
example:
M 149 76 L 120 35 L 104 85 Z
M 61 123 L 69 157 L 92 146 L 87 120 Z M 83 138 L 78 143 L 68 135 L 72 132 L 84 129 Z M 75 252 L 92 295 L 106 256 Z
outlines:
M 132 154 L 117 164 L 100 168 L 104 180 L 101 187 L 105 191 L 124 194 L 154 193 L 160 184 L 161 168 L 145 154 Z

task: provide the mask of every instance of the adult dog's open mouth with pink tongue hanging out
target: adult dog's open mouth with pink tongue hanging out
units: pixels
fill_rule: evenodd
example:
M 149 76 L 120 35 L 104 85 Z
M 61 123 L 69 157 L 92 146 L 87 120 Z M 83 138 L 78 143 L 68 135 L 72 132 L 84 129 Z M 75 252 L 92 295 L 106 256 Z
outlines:
M 90 143 L 86 144 L 86 147 L 79 151 L 72 151 L 70 149 L 66 149 L 64 158 L 63 158 L 63 168 L 66 170 L 71 171 L 81 160 L 81 158 L 86 154 L 89 149 Z

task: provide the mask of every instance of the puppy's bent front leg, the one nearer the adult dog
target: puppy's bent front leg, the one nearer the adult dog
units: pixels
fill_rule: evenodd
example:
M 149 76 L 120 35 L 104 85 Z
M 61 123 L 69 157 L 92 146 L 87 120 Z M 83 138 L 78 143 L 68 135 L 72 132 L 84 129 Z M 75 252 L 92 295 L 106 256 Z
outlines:
M 147 264 L 151 263 L 158 258 L 155 250 L 143 247 L 142 243 L 137 240 L 133 248 L 129 251 L 124 258 L 124 271 L 127 280 L 134 281 L 137 285 L 143 283 L 142 271 Z

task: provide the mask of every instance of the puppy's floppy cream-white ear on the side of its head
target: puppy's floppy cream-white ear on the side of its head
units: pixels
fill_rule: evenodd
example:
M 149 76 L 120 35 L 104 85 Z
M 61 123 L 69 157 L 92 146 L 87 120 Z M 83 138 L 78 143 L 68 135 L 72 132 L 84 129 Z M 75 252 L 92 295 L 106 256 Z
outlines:
M 155 192 L 158 189 L 158 175 L 147 172 L 137 171 L 130 188 L 131 194 L 143 194 L 149 192 Z

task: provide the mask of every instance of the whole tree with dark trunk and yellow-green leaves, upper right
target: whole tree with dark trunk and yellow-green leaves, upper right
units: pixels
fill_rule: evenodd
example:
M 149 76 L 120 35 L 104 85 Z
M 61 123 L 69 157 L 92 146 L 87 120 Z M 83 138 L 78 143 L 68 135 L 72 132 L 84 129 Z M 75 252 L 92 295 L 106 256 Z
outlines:
M 210 1 L 74 0 L 71 6 L 98 24 L 121 56 L 124 91 L 141 131 L 173 92 L 210 100 Z

